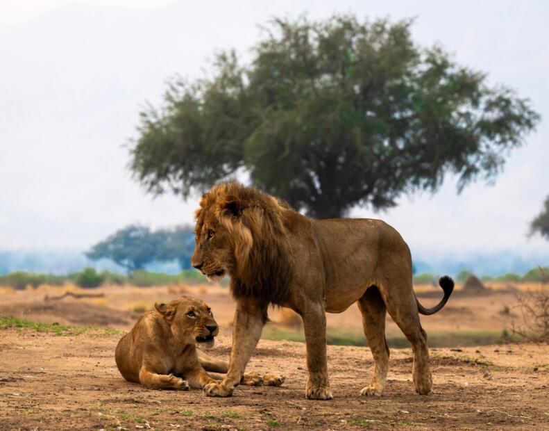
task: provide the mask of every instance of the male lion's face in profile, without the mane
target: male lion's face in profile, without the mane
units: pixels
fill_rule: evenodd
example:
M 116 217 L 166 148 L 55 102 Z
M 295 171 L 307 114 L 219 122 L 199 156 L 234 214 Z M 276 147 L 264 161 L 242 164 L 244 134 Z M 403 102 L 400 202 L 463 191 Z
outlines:
M 231 273 L 235 266 L 234 241 L 226 225 L 208 211 L 203 220 L 196 222 L 196 245 L 192 266 L 203 273 L 210 282 Z

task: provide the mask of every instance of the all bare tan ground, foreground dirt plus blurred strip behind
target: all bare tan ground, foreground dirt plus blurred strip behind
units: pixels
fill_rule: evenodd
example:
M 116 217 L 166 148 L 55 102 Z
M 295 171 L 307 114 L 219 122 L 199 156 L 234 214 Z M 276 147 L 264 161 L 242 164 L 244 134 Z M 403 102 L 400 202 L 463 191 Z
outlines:
M 44 300 L 65 291 L 103 293 L 101 298 Z M 419 290 L 423 304 L 439 291 Z M 221 286 L 135 288 L 41 286 L 0 288 L 0 315 L 67 325 L 129 330 L 142 309 L 180 294 L 203 298 L 221 333 L 210 353 L 228 357 L 234 304 Z M 443 311 L 422 317 L 428 333 L 496 330 L 505 327 L 501 311 L 511 307 L 512 291 L 465 295 L 459 290 Z M 271 319 L 280 318 L 273 310 Z M 360 331 L 360 314 L 350 307 L 328 315 L 328 326 Z M 387 319 L 387 332 L 396 330 Z M 287 377 L 280 388 L 239 387 L 232 398 L 206 398 L 201 391 L 153 391 L 126 382 L 117 371 L 120 334 L 86 330 L 56 335 L 31 329 L 0 329 L 0 430 L 223 430 L 223 429 L 548 429 L 549 346 L 483 345 L 432 348 L 434 393 L 419 396 L 412 384 L 412 352 L 391 349 L 389 381 L 381 398 L 358 393 L 370 379 L 369 348 L 328 346 L 335 399 L 305 400 L 305 345 L 262 340 L 248 370 Z

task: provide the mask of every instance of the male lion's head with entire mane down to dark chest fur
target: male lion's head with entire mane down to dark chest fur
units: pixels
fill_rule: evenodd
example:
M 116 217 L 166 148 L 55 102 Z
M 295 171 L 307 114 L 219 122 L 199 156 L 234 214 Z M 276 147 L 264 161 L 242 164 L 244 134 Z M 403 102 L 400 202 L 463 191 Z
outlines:
M 233 295 L 284 302 L 289 243 L 283 222 L 289 206 L 237 182 L 214 186 L 196 211 L 192 266 L 208 279 L 230 275 Z

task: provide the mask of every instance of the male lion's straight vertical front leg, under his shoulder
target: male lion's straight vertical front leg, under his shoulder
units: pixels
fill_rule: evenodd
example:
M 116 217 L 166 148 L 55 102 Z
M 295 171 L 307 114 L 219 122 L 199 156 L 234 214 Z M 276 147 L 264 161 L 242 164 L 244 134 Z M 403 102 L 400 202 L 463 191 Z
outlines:
M 334 398 L 328 382 L 326 362 L 326 314 L 320 304 L 301 315 L 307 345 L 307 368 L 309 380 L 305 397 L 310 400 L 331 400 Z

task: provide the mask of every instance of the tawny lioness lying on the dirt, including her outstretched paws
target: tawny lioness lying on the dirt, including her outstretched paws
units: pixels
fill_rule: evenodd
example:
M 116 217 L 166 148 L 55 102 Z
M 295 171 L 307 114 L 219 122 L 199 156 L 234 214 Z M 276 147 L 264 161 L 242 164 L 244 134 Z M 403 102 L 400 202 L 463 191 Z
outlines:
M 129 382 L 152 389 L 202 389 L 217 382 L 206 371 L 227 373 L 228 362 L 208 357 L 196 343 L 213 343 L 219 327 L 205 302 L 181 296 L 169 304 L 155 304 L 119 341 L 115 359 Z M 280 386 L 284 377 L 245 373 L 241 383 Z

